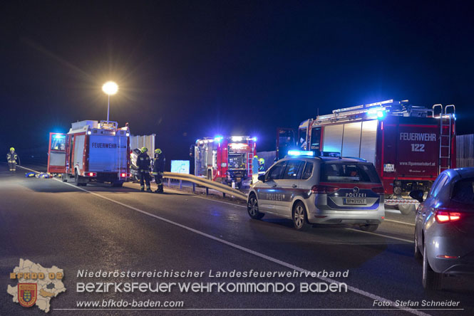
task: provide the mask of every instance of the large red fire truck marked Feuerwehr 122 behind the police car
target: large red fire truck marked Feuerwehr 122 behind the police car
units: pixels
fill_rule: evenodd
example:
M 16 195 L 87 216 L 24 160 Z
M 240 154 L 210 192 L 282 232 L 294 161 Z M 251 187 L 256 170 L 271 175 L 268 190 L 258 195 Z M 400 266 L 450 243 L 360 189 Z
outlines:
M 408 100 L 357 105 L 305 120 L 298 132 L 281 129 L 277 136 L 277 157 L 296 145 L 372 162 L 386 202 L 398 202 L 402 214 L 415 210 L 415 204 L 403 201 L 410 191 L 428 192 L 438 174 L 456 163 L 454 105 L 427 108 Z

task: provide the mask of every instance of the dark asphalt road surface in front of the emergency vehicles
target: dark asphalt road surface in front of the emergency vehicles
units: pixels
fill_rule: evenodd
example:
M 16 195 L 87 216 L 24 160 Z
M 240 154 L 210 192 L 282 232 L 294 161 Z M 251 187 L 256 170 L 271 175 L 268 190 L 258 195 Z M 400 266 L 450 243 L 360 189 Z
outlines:
M 19 259 L 65 273 L 66 292 L 51 300 L 51 315 L 473 315 L 473 280 L 447 278 L 441 292 L 423 290 L 421 264 L 413 258 L 413 216 L 388 210 L 375 233 L 350 226 L 317 226 L 297 232 L 292 222 L 249 218 L 244 206 L 165 188 L 149 194 L 137 184 L 80 189 L 56 179 L 10 174 L 0 164 L 0 315 L 44 315 L 20 307 L 6 293 Z M 78 278 L 91 271 L 204 271 L 201 278 Z M 347 293 L 299 293 L 300 283 L 325 278 L 211 278 L 212 271 L 346 271 L 331 278 Z M 282 282 L 293 293 L 77 293 L 79 282 Z M 173 310 L 74 310 L 77 302 L 182 301 Z M 388 302 L 459 302 L 461 310 L 400 309 Z M 102 307 L 101 307 L 102 308 Z M 163 307 L 160 307 L 163 308 Z M 425 310 L 421 310 L 421 309 Z M 448 308 L 448 307 L 437 307 Z

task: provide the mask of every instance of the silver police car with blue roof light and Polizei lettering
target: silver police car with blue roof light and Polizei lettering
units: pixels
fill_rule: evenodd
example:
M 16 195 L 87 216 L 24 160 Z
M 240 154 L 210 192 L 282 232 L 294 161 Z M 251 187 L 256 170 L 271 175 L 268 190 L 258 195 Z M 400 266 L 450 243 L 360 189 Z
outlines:
M 292 218 L 297 230 L 326 223 L 376 231 L 385 216 L 383 186 L 364 159 L 290 150 L 250 188 L 247 211 L 254 219 L 267 213 Z

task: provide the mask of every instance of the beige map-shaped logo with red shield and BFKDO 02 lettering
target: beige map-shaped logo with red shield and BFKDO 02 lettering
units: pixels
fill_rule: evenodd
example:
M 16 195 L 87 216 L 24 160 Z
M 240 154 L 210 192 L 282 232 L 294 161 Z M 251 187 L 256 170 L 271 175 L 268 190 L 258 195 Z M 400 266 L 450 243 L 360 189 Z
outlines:
M 18 283 L 9 285 L 6 292 L 23 307 L 36 305 L 40 310 L 49 312 L 51 299 L 66 291 L 63 278 L 63 269 L 56 265 L 44 268 L 39 263 L 20 259 L 19 265 L 10 273 L 10 280 Z

